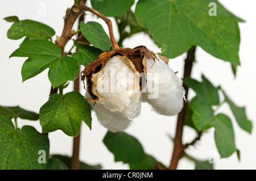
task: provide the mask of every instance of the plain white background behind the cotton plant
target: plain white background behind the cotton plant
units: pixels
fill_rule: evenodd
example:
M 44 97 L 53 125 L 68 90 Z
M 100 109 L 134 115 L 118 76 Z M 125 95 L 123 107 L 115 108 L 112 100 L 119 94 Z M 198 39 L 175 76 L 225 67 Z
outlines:
M 249 120 L 253 121 L 253 131 L 251 134 L 243 131 L 238 127 L 232 112 L 229 107 L 224 104 L 218 112 L 228 114 L 232 118 L 234 133 L 236 136 L 236 146 L 241 151 L 241 161 L 238 161 L 236 153 L 229 158 L 220 159 L 214 144 L 214 128 L 209 129 L 195 147 L 187 150 L 187 153 L 198 159 L 207 160 L 209 157 L 215 159 L 215 169 L 256 169 L 256 133 L 255 133 L 255 40 L 256 40 L 256 24 L 255 24 L 255 7 L 256 1 L 238 1 L 238 0 L 221 0 L 228 10 L 246 20 L 246 23 L 240 23 L 241 30 L 241 45 L 240 45 L 240 60 L 241 66 L 237 70 L 237 77 L 234 78 L 230 64 L 210 54 L 204 52 L 201 48 L 196 51 L 196 64 L 193 67 L 192 77 L 198 80 L 201 79 L 203 73 L 215 86 L 221 87 L 228 92 L 228 95 L 234 102 L 242 107 L 246 106 L 246 113 Z M 52 27 L 56 35 L 60 36 L 63 30 L 63 16 L 65 10 L 73 5 L 73 1 L 1 1 L 0 2 L 0 105 L 1 106 L 17 106 L 27 110 L 39 112 L 40 107 L 47 102 L 50 90 L 50 82 L 47 74 L 48 69 L 34 78 L 28 79 L 22 83 L 20 74 L 22 64 L 26 58 L 13 57 L 9 60 L 9 56 L 19 44 L 23 41 L 7 39 L 6 33 L 10 28 L 11 23 L 2 20 L 6 16 L 16 15 L 20 20 L 31 19 L 47 24 Z M 88 3 L 88 6 L 89 3 Z M 135 6 L 133 6 L 134 8 Z M 45 8 L 45 11 L 44 11 Z M 45 12 L 45 14 L 44 14 Z M 103 24 L 106 32 L 108 28 L 100 19 L 95 16 L 86 16 L 87 20 L 96 20 Z M 113 22 L 114 34 L 118 40 L 117 26 Z M 74 28 L 76 29 L 77 23 Z M 56 35 L 53 40 L 56 39 Z M 129 40 L 125 40 L 124 47 L 134 48 L 138 45 L 146 45 L 148 49 L 154 52 L 160 52 L 160 49 L 150 40 L 147 35 L 138 33 L 132 36 Z M 68 43 L 71 47 L 71 42 Z M 179 71 L 179 78 L 183 75 L 183 60 L 185 54 L 170 60 L 169 65 L 174 71 Z M 73 84 L 71 83 L 65 92 L 72 91 Z M 84 95 L 85 90 L 81 86 L 81 93 Z M 189 92 L 189 98 L 192 98 L 195 93 Z M 106 129 L 102 127 L 94 112 L 92 113 L 92 131 L 82 123 L 81 128 L 81 149 L 80 159 L 89 164 L 100 163 L 104 169 L 129 169 L 128 165 L 122 162 L 114 162 L 114 156 L 102 140 L 105 136 Z M 26 121 L 18 119 L 18 127 L 23 125 L 33 125 L 39 132 L 42 131 L 39 121 Z M 168 134 L 172 137 L 175 135 L 176 116 L 168 117 L 161 116 L 151 111 L 151 107 L 147 103 L 142 104 L 141 115 L 134 120 L 134 124 L 126 130 L 127 133 L 135 136 L 143 145 L 144 151 L 153 155 L 165 165 L 170 164 L 173 144 L 168 138 Z M 196 136 L 195 132 L 188 127 L 184 128 L 184 142 L 193 140 Z M 50 153 L 72 155 L 72 137 L 68 137 L 62 131 L 49 133 Z M 191 161 L 183 158 L 179 162 L 178 169 L 194 169 L 195 165 Z

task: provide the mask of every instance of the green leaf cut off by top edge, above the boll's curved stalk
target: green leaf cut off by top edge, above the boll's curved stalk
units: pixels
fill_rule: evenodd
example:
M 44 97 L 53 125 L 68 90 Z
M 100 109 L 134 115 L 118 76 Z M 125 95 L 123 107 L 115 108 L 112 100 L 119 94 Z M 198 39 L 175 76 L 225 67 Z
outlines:
M 101 12 L 105 16 L 118 16 L 125 11 L 130 10 L 134 4 L 134 0 L 90 0 L 93 9 Z

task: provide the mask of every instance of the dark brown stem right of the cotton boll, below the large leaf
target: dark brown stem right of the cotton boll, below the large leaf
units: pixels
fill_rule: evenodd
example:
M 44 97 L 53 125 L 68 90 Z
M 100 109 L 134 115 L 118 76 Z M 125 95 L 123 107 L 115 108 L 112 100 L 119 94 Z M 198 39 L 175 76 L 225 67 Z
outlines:
M 185 59 L 185 65 L 184 65 L 184 75 L 183 77 L 191 77 L 191 71 L 193 62 L 195 61 L 195 51 L 196 47 L 191 47 L 187 52 L 187 58 Z M 184 90 L 187 92 L 188 96 L 188 87 L 183 83 Z M 184 107 L 180 111 L 178 117 L 177 117 L 177 125 L 176 125 L 176 134 L 174 138 L 174 150 L 172 152 L 172 159 L 170 166 L 168 167 L 169 170 L 176 170 L 177 169 L 177 163 L 179 162 L 179 159 L 182 157 L 184 153 L 185 146 L 182 143 L 182 134 L 183 134 L 183 127 L 185 124 L 185 115 L 187 111 L 187 103 L 184 102 Z

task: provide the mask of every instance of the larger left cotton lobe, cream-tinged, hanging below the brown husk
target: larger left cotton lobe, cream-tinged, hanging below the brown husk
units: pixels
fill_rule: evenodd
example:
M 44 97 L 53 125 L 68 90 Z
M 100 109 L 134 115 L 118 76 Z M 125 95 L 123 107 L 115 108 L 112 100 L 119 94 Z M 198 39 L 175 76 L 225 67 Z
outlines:
M 93 76 L 93 92 L 98 101 L 92 107 L 98 121 L 109 131 L 123 131 L 141 111 L 138 72 L 134 73 L 122 58 L 114 56 Z

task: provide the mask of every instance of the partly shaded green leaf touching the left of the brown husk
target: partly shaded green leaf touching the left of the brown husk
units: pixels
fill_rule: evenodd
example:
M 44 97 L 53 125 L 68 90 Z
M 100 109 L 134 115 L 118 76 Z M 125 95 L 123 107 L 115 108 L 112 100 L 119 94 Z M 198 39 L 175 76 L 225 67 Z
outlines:
M 74 44 L 78 51 L 73 53 L 72 57 L 76 58 L 80 65 L 87 66 L 90 62 L 96 60 L 96 58 L 102 53 L 100 49 L 90 47 L 88 45 L 82 45 L 76 43 L 76 41 L 74 41 Z

